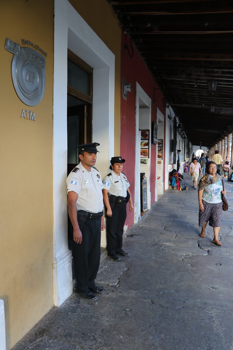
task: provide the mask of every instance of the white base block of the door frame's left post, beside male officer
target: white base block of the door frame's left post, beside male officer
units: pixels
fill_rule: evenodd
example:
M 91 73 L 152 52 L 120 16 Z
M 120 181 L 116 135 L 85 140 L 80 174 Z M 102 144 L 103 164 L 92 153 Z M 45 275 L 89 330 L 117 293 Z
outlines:
M 70 250 L 53 259 L 53 300 L 60 306 L 73 292 L 72 254 Z

